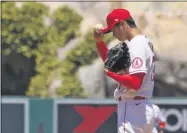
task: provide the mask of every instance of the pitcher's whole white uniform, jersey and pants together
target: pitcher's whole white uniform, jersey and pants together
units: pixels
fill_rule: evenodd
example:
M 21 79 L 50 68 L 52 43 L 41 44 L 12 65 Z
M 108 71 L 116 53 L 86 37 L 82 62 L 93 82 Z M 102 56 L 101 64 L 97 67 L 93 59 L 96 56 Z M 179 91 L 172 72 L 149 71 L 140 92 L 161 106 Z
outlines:
M 138 91 L 119 85 L 114 92 L 118 102 L 118 133 L 151 133 L 154 125 L 154 111 L 151 102 L 134 100 L 135 96 L 151 98 L 154 86 L 154 52 L 149 39 L 143 35 L 135 36 L 127 43 L 132 64 L 129 74 L 146 73 Z

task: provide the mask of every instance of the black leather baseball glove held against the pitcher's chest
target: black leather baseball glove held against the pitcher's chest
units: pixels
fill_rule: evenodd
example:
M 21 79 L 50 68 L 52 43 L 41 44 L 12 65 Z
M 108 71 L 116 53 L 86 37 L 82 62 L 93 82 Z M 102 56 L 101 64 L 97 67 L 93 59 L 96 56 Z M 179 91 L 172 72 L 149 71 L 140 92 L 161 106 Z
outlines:
M 112 72 L 120 72 L 131 65 L 129 48 L 125 42 L 120 42 L 108 51 L 104 67 Z

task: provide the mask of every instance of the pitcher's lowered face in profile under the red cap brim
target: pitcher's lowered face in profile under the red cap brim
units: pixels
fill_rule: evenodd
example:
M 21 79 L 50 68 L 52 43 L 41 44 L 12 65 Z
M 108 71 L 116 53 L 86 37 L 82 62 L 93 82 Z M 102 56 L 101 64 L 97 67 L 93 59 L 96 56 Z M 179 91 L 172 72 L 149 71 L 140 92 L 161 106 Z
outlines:
M 120 41 L 125 41 L 127 38 L 127 33 L 125 31 L 124 23 L 118 23 L 112 28 L 113 36 L 115 36 Z

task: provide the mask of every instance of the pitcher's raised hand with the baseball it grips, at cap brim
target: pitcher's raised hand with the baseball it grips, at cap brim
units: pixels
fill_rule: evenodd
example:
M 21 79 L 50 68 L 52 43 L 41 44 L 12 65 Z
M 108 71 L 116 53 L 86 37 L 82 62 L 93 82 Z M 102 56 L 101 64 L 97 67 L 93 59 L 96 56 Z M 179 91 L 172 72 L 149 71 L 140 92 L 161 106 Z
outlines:
M 103 41 L 103 34 L 101 33 L 102 29 L 103 29 L 103 25 L 102 24 L 96 24 L 93 27 L 94 39 L 95 39 L 96 42 Z

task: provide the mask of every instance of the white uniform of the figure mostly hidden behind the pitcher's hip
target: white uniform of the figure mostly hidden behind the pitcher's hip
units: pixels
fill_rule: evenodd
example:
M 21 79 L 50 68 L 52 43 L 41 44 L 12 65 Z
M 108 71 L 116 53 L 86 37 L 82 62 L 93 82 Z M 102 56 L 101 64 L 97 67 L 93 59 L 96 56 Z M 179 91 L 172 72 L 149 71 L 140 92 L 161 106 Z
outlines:
M 163 116 L 162 112 L 160 111 L 160 108 L 153 104 L 153 109 L 154 109 L 154 116 L 155 116 L 155 122 L 154 122 L 154 129 L 153 129 L 153 133 L 158 133 L 157 131 L 157 127 L 160 125 L 160 123 L 165 123 L 166 119 Z

